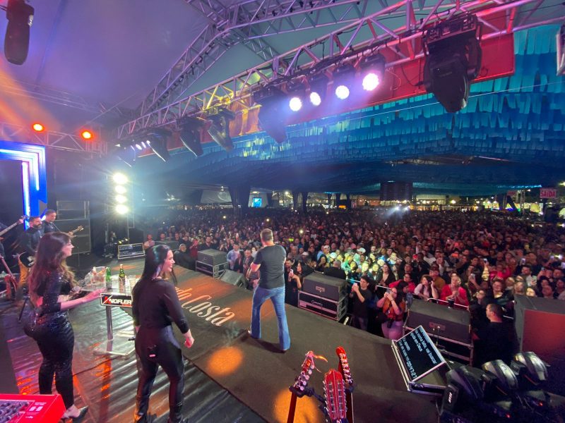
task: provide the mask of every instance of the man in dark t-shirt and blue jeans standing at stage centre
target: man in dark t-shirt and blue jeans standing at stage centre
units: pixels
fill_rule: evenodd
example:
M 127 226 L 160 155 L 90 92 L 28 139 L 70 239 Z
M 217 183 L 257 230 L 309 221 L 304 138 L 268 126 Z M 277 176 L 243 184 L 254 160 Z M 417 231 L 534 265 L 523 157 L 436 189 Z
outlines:
M 278 321 L 278 338 L 280 350 L 290 348 L 287 315 L 285 312 L 285 258 L 286 252 L 280 245 L 273 243 L 273 231 L 261 231 L 263 248 L 258 250 L 251 264 L 251 273 L 261 269 L 258 285 L 253 291 L 253 309 L 251 312 L 251 338 L 261 338 L 261 305 L 270 300 L 273 302 Z

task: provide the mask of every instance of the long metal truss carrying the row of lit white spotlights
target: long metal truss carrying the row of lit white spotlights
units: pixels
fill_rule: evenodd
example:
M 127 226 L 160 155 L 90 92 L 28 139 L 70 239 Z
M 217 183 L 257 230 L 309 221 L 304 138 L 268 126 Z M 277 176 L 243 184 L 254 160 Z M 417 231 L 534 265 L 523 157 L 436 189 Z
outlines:
M 259 66 L 239 73 L 206 90 L 148 111 L 134 121 L 119 127 L 117 137 L 124 137 L 143 128 L 168 125 L 174 123 L 177 118 L 199 114 L 216 104 L 237 102 L 241 105 L 238 105 L 239 109 L 249 109 L 252 105 L 251 94 L 258 87 L 279 80 L 288 80 L 296 75 L 307 74 L 314 69 L 320 71 L 329 68 L 338 61 L 362 54 L 364 51 L 376 52 L 381 49 L 392 51 L 396 59 L 388 61 L 387 68 L 420 59 L 424 56 L 424 52 L 421 47 L 417 46 L 421 46 L 422 43 L 416 43 L 415 40 L 422 37 L 424 29 L 429 25 L 450 18 L 456 13 L 475 13 L 479 20 L 488 27 L 482 39 L 499 37 L 549 23 L 560 23 L 563 20 L 562 16 L 538 18 L 535 11 L 540 8 L 541 4 L 540 0 L 506 2 L 501 0 L 456 0 L 454 3 L 447 0 L 436 0 L 432 6 L 420 0 L 401 0 L 367 17 L 358 18 L 355 22 L 333 30 L 313 42 L 292 49 L 286 54 L 275 56 L 270 61 L 261 63 Z M 426 11 L 425 18 L 416 20 L 415 10 Z M 521 15 L 519 19 L 517 18 L 518 11 Z M 493 20 L 487 20 L 492 16 L 501 16 L 501 13 L 505 18 L 500 19 L 500 23 L 497 22 L 498 26 L 492 23 Z M 386 19 L 391 16 L 403 16 L 405 25 L 396 29 L 386 26 Z M 322 46 L 325 48 L 322 49 Z M 316 51 L 328 53 L 321 56 Z M 285 63 L 284 66 L 281 63 Z

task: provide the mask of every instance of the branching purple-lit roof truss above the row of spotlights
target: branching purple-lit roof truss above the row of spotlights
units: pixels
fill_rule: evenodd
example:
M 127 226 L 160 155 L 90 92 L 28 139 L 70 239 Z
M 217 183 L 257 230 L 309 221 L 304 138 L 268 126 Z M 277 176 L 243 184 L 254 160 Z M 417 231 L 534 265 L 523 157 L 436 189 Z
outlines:
M 362 18 L 369 1 L 376 0 L 248 0 L 230 7 L 218 0 L 184 1 L 210 23 L 145 97 L 141 115 L 179 99 L 236 44 L 270 61 L 279 54 L 266 42 L 268 35 L 351 22 Z

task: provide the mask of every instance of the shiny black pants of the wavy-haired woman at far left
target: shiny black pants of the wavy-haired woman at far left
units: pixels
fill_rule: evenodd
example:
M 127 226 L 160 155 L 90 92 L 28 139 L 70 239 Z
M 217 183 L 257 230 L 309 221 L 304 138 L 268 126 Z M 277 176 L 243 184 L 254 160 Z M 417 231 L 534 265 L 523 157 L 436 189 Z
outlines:
M 54 375 L 57 392 L 63 397 L 65 407 L 69 408 L 74 403 L 72 362 L 75 336 L 73 326 L 66 313 L 57 313 L 55 317 L 46 315 L 40 319 L 44 321 L 37 324 L 33 334 L 43 356 L 39 373 L 40 393 L 52 393 Z

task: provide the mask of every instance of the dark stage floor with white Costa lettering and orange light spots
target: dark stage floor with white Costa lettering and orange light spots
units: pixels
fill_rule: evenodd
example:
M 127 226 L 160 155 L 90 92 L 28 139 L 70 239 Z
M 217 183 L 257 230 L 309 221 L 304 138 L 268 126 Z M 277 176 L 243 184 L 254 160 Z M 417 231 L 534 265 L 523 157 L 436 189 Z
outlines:
M 126 274 L 141 274 L 143 262 L 125 262 Z M 262 309 L 263 339 L 247 336 L 251 319 L 251 292 L 208 276 L 175 267 L 181 304 L 195 338 L 193 348 L 183 347 L 186 364 L 184 413 L 190 422 L 285 422 L 290 386 L 299 374 L 304 354 L 323 355 L 311 386 L 322 394 L 321 379 L 337 368 L 335 347 L 342 345 L 350 360 L 357 388 L 353 394 L 356 422 L 436 422 L 434 400 L 408 393 L 393 357 L 390 341 L 343 326 L 295 307 L 287 306 L 292 345 L 278 353 L 276 317 L 270 302 Z M 4 306 L 6 307 L 6 306 Z M 114 308 L 114 333 L 130 329 L 131 319 Z M 85 422 L 129 422 L 137 384 L 135 357 L 127 359 L 93 355 L 105 338 L 105 312 L 97 302 L 71 314 L 76 348 L 73 360 L 78 405 L 91 410 Z M 40 354 L 16 321 L 5 312 L 2 323 L 8 339 L 20 392 L 37 392 Z M 182 336 L 177 331 L 179 340 Z M 167 379 L 160 372 L 153 388 L 151 410 L 165 421 Z M 231 394 L 231 395 L 230 395 Z M 297 402 L 295 422 L 323 422 L 312 398 Z

